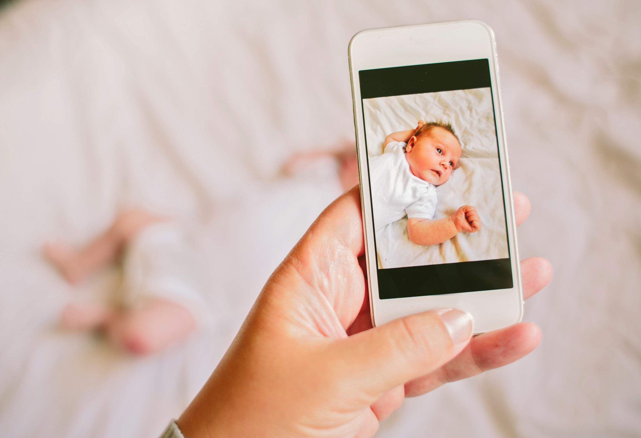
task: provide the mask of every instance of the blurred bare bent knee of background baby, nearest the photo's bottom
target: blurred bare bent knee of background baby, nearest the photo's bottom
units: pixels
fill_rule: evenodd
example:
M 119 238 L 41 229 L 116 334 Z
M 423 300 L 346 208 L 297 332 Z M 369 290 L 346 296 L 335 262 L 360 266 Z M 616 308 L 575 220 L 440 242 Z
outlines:
M 183 341 L 195 329 L 192 312 L 163 298 L 146 299 L 113 317 L 105 326 L 112 342 L 137 355 L 163 351 Z

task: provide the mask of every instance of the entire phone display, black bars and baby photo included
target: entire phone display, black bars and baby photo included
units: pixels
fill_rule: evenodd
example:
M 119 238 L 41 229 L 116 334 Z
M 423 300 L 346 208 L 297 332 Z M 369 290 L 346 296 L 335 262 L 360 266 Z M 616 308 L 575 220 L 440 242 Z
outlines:
M 358 76 L 379 298 L 511 289 L 488 60 Z

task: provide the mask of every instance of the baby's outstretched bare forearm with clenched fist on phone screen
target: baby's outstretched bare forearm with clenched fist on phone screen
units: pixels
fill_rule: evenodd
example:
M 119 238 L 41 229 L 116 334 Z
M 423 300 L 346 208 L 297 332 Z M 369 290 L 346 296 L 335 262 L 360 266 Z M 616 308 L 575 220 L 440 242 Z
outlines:
M 407 221 L 410 240 L 422 246 L 438 245 L 460 232 L 475 233 L 480 229 L 481 219 L 476 207 L 471 205 L 463 205 L 456 213 L 442 219 L 410 217 Z

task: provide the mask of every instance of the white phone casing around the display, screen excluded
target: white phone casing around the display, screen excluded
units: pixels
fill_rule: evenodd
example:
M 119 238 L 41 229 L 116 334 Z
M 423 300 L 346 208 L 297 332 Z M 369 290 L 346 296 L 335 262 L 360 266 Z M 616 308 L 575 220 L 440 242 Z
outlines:
M 516 223 L 512 204 L 512 185 L 508 167 L 503 109 L 499 88 L 494 33 L 480 21 L 456 21 L 398 28 L 370 29 L 357 33 L 349 42 L 349 71 L 354 101 L 354 126 L 361 181 L 361 205 L 365 230 L 369 299 L 372 323 L 379 325 L 397 317 L 432 308 L 455 307 L 467 310 L 474 317 L 474 333 L 483 333 L 519 322 L 523 316 L 523 294 L 520 280 Z M 499 158 L 503 176 L 504 205 L 512 262 L 513 288 L 495 291 L 462 292 L 411 298 L 378 298 L 376 249 L 370 202 L 365 125 L 361 105 L 360 70 L 419 65 L 437 62 L 487 58 L 490 64 L 494 99 Z

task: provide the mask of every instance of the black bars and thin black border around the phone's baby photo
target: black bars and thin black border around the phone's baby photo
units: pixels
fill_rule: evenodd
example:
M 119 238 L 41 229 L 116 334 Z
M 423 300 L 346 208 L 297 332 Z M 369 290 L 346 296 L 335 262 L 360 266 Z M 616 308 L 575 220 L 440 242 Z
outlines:
M 441 62 L 421 65 L 406 65 L 385 69 L 361 70 L 358 72 L 361 92 L 361 109 L 363 124 L 365 110 L 363 99 L 372 97 L 403 96 L 449 90 L 468 90 L 470 88 L 490 88 L 492 92 L 492 110 L 494 112 L 494 130 L 498 144 L 496 126 L 496 108 L 494 108 L 494 90 L 490 77 L 490 63 L 486 59 Z M 366 128 L 363 126 L 363 129 Z M 369 154 L 367 153 L 367 135 L 365 136 L 365 155 L 367 158 L 367 178 L 369 180 Z M 501 160 L 501 154 L 498 154 Z M 503 213 L 505 215 L 508 254 L 510 241 L 507 230 L 507 209 L 505 205 L 505 188 L 503 171 L 501 172 L 501 191 L 503 193 Z M 370 203 L 372 189 L 370 182 Z M 374 223 L 374 206 L 371 205 L 372 224 Z M 374 233 L 374 251 L 376 233 Z M 395 267 L 379 269 L 378 296 L 380 299 L 408 298 L 413 296 L 454 294 L 460 292 L 492 291 L 495 289 L 512 289 L 513 274 L 510 257 L 476 262 L 457 262 L 434 265 Z

